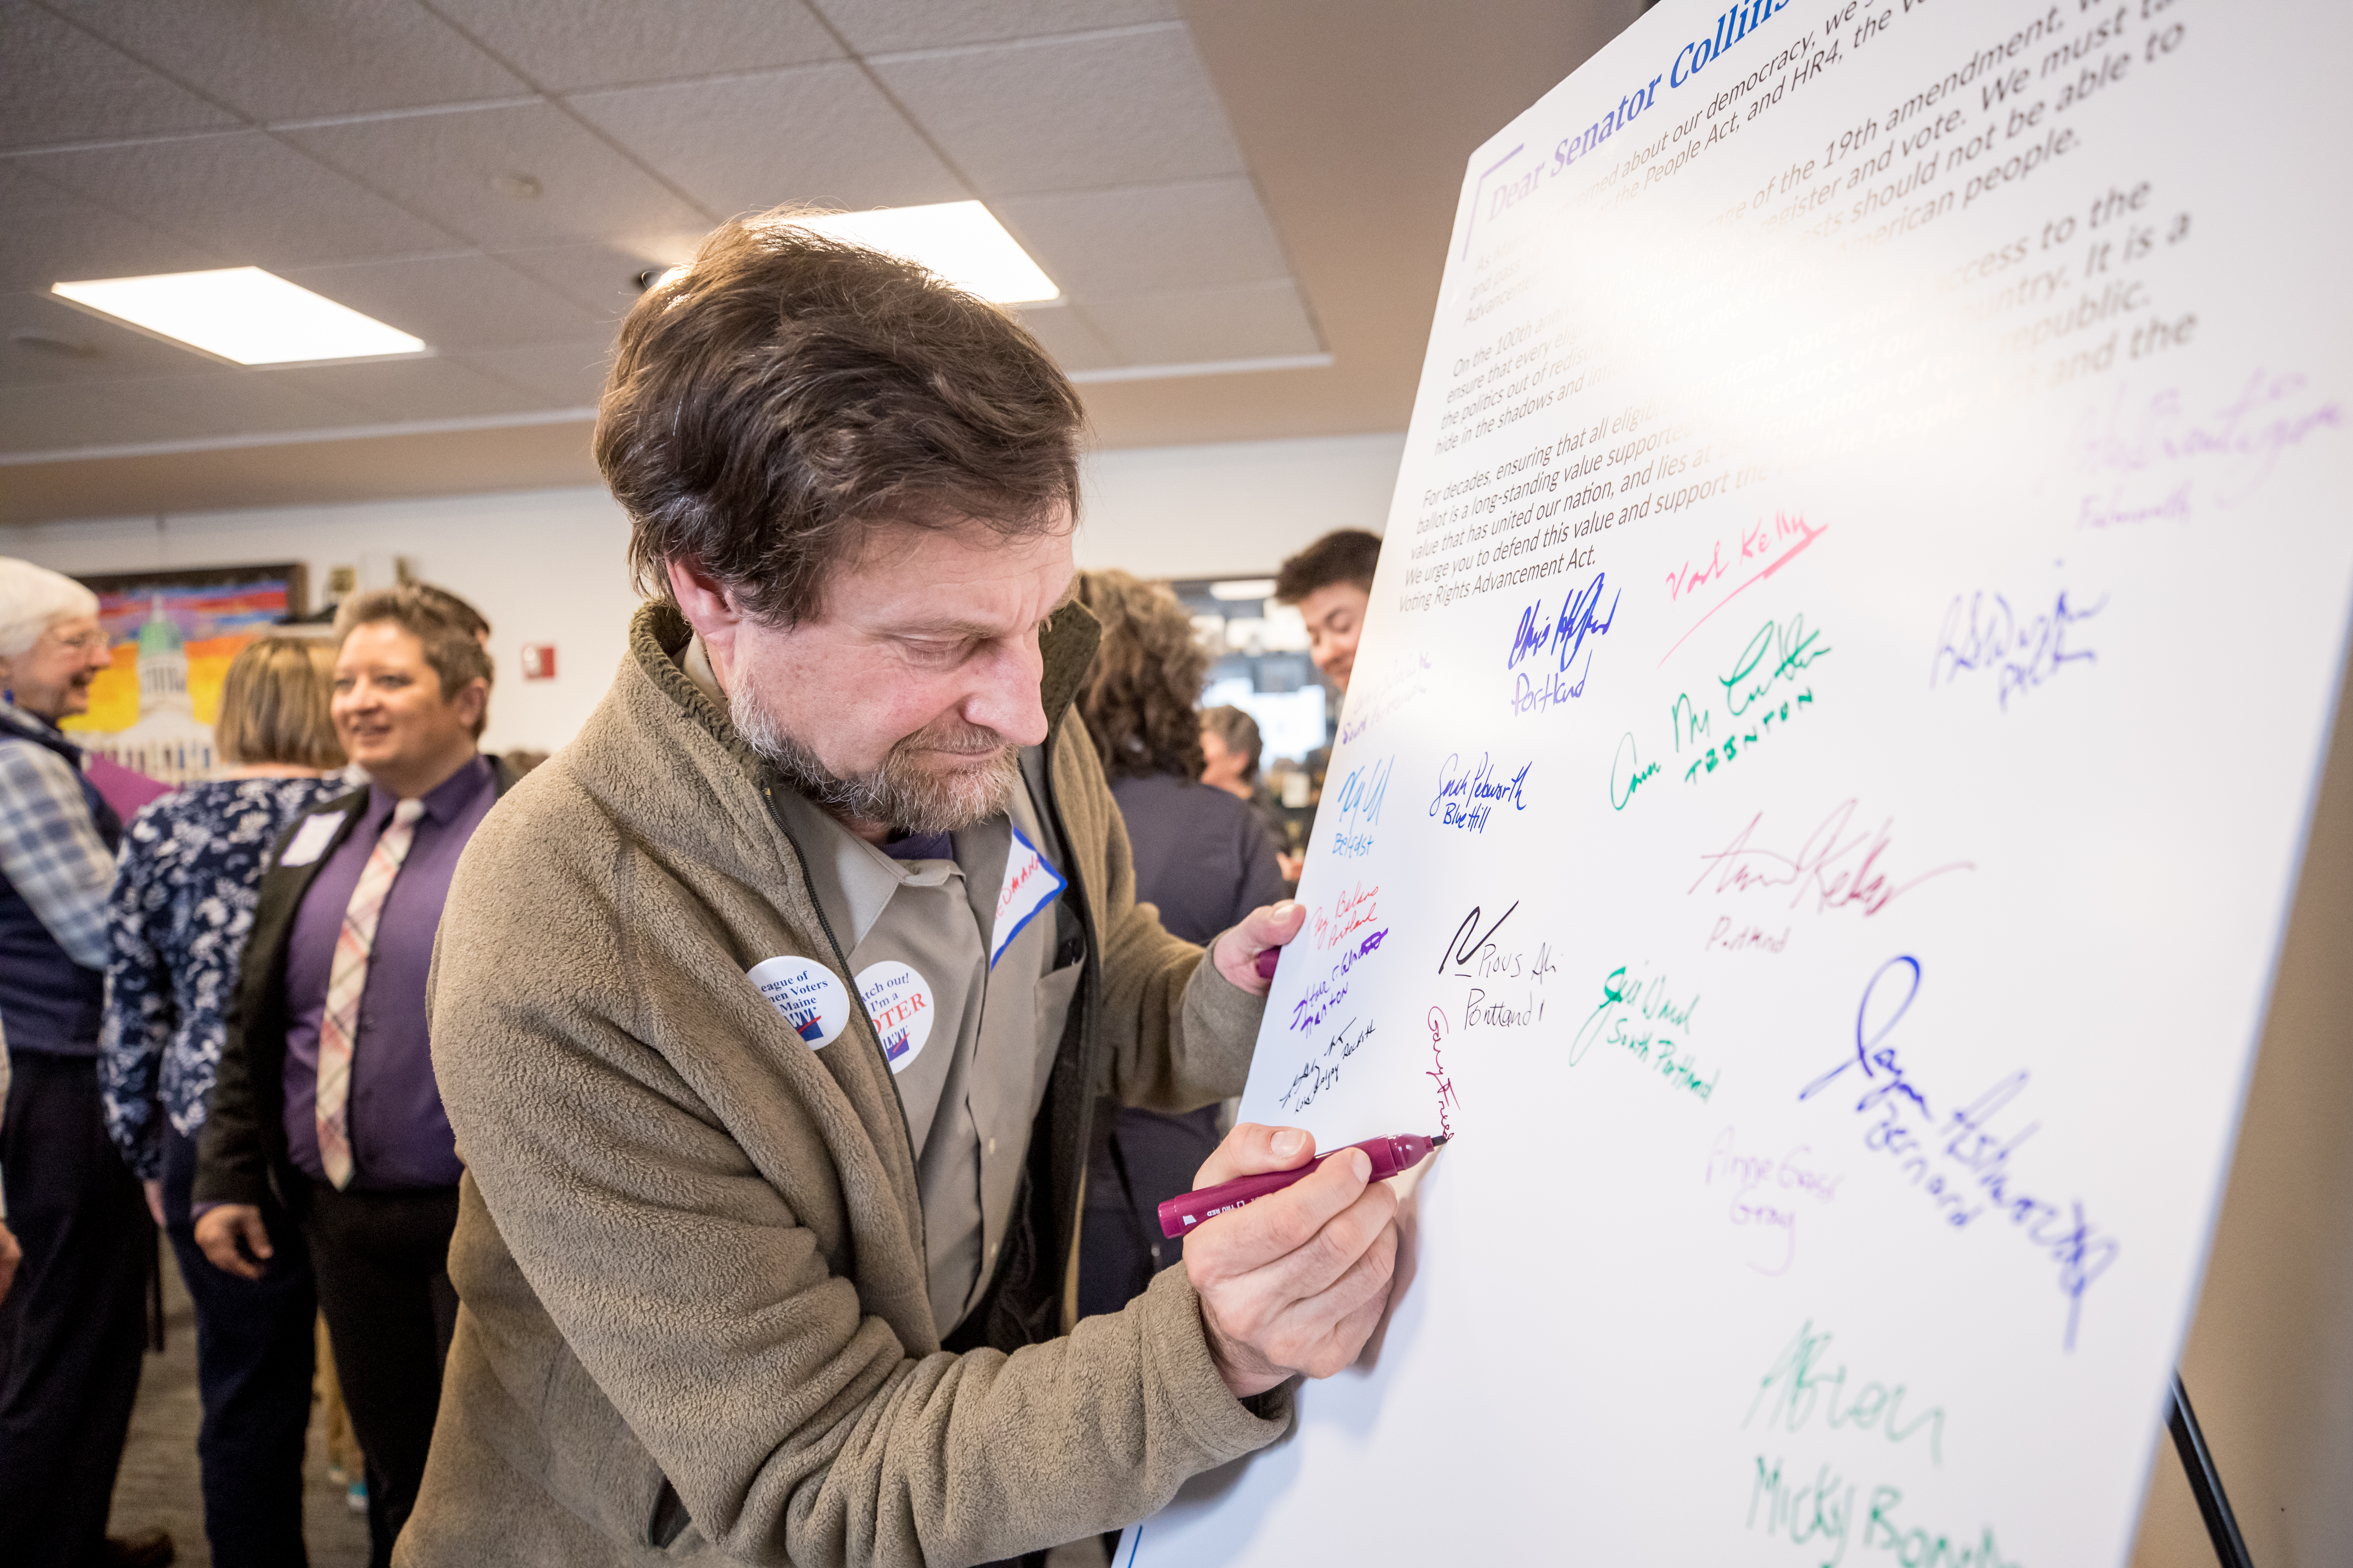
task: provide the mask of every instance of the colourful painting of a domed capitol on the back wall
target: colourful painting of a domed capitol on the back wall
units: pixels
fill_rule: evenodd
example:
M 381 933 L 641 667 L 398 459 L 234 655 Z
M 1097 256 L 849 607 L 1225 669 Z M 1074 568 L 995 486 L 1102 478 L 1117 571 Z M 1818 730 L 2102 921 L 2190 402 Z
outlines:
M 212 778 L 212 719 L 238 651 L 301 616 L 304 569 L 221 567 L 85 576 L 113 668 L 66 731 L 92 752 L 160 783 Z

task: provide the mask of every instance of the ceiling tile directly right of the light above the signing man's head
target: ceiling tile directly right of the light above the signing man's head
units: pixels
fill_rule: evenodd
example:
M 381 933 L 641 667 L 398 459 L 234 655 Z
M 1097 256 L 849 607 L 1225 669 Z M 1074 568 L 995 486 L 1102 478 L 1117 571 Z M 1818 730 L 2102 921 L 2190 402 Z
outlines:
M 1287 275 L 1247 179 L 1019 195 L 991 209 L 1068 294 L 1207 289 Z

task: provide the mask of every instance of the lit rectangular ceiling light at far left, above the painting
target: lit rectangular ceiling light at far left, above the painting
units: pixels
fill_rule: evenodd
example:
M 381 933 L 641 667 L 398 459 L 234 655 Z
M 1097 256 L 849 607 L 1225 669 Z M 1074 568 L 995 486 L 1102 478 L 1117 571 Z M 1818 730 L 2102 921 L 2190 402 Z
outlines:
M 235 364 L 414 355 L 424 339 L 256 266 L 49 284 L 59 299 Z

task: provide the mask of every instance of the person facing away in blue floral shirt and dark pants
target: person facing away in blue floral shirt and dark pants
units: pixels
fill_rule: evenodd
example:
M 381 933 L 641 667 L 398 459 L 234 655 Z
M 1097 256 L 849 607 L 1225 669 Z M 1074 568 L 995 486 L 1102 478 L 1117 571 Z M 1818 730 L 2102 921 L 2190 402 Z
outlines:
M 224 1568 L 304 1561 L 315 1298 L 311 1251 L 275 1199 L 259 1206 L 273 1255 L 247 1279 L 195 1246 L 188 1187 L 271 844 L 294 818 L 351 792 L 334 773 L 344 748 L 327 715 L 332 684 L 332 642 L 261 637 L 240 651 L 214 719 L 221 776 L 132 818 L 106 910 L 106 1131 L 146 1182 L 195 1300 L 205 1406 L 195 1450 L 205 1537 Z

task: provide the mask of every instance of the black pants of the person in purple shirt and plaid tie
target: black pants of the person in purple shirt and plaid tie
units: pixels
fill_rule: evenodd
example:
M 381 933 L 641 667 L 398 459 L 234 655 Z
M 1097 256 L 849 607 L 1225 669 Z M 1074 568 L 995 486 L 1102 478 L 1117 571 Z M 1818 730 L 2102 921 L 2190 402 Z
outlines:
M 351 1429 L 367 1450 L 369 1568 L 391 1566 L 426 1476 L 440 1368 L 456 1331 L 452 1229 L 456 1187 L 336 1192 L 311 1182 L 311 1272 Z

